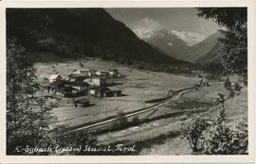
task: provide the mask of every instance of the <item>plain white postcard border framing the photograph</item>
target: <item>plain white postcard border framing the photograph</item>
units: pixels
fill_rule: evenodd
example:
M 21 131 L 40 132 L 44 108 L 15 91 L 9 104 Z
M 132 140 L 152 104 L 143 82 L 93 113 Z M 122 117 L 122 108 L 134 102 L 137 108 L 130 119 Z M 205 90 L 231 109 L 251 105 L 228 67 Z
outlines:
M 193 8 L 247 7 L 248 15 L 248 156 L 6 156 L 6 8 Z M 170 162 L 252 162 L 255 161 L 255 2 L 253 0 L 175 1 L 0 1 L 0 162 L 1 163 L 170 163 Z

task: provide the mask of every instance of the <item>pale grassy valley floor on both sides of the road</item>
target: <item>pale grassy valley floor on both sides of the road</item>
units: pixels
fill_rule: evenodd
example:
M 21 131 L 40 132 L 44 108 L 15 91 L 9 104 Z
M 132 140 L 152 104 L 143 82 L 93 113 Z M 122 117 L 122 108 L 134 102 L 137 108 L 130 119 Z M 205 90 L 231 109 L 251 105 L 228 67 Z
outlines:
M 66 59 L 56 61 L 42 61 L 35 65 L 40 81 L 53 73 L 52 66 L 58 63 L 58 72 L 62 75 L 71 74 L 80 65 L 77 60 Z M 91 98 L 90 107 L 55 107 L 52 114 L 58 118 L 59 123 L 68 123 L 71 126 L 80 125 L 89 121 L 99 120 L 106 116 L 116 115 L 119 111 L 134 111 L 141 107 L 149 107 L 146 100 L 161 98 L 167 95 L 168 90 L 180 90 L 194 86 L 200 80 L 197 77 L 156 73 L 136 70 L 119 65 L 112 61 L 102 61 L 98 58 L 82 60 L 86 69 L 107 70 L 116 68 L 125 77 L 118 80 L 115 88 L 122 90 L 125 96 L 112 98 Z M 223 92 L 227 97 L 229 91 L 224 88 L 224 82 L 210 81 L 210 87 L 192 90 L 181 95 L 177 100 L 170 101 L 164 107 L 155 110 L 152 115 L 163 112 L 174 112 L 186 109 L 207 108 L 203 112 L 188 112 L 174 117 L 168 117 L 137 124 L 121 130 L 97 135 L 99 144 L 122 142 L 124 144 L 137 144 L 136 155 L 191 155 L 191 148 L 187 139 L 181 136 L 182 130 L 196 117 L 214 119 L 218 106 L 212 104 L 217 97 L 216 93 Z M 247 88 L 240 94 L 227 100 L 227 113 L 233 122 L 239 122 L 247 115 Z M 150 113 L 149 113 L 150 114 Z

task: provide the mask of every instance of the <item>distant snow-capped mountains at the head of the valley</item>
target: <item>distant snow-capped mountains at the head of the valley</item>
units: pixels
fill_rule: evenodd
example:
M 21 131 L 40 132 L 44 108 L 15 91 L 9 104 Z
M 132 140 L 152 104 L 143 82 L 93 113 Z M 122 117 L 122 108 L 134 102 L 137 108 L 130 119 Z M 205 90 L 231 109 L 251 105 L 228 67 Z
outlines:
M 202 37 L 190 32 L 168 31 L 164 28 L 153 31 L 134 30 L 134 32 L 141 40 L 152 44 L 170 57 L 200 64 L 217 58 L 218 38 L 222 38 L 220 32 L 202 40 Z

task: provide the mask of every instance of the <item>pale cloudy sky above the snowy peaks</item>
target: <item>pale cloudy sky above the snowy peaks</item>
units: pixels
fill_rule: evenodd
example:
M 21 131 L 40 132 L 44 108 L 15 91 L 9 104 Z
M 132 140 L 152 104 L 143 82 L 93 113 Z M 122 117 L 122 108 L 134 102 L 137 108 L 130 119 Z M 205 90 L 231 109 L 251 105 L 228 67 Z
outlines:
M 199 18 L 195 8 L 105 8 L 116 20 L 132 30 L 142 26 L 166 28 L 170 31 L 188 31 L 204 38 L 215 33 L 218 25 Z

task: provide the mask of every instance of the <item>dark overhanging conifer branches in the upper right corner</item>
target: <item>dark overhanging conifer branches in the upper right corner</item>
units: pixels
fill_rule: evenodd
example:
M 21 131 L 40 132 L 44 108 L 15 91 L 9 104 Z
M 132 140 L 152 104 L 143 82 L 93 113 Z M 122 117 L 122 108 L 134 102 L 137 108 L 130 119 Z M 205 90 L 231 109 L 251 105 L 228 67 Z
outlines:
M 219 54 L 226 74 L 247 79 L 247 8 L 197 8 L 197 15 L 225 28 Z

